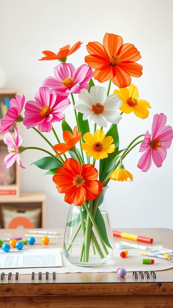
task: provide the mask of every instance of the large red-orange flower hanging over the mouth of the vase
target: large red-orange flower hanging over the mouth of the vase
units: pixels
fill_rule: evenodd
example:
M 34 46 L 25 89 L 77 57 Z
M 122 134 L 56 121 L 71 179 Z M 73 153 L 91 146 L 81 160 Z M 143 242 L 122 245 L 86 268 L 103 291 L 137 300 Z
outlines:
M 103 184 L 97 180 L 98 171 L 92 164 L 81 166 L 77 160 L 68 158 L 58 168 L 53 181 L 59 193 L 65 193 L 64 201 L 76 206 L 85 200 L 94 200 L 102 192 Z

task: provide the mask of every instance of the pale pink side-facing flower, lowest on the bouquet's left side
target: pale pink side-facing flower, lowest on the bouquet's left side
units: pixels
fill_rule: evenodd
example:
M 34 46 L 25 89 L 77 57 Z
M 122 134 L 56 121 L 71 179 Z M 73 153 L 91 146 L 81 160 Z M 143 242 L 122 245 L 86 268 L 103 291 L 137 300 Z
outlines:
M 15 163 L 15 161 L 17 161 L 21 168 L 25 169 L 25 167 L 22 166 L 22 162 L 18 154 L 19 147 L 22 144 L 22 137 L 18 134 L 18 129 L 16 126 L 14 126 L 14 132 L 16 141 L 14 141 L 9 131 L 5 132 L 3 140 L 4 143 L 7 144 L 9 154 L 4 158 L 4 162 L 7 169 L 9 169 Z

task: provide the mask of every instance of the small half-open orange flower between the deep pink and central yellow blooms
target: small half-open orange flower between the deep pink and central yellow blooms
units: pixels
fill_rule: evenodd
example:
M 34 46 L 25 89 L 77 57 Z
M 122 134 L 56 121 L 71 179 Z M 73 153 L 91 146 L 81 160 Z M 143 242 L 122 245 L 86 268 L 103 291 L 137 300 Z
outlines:
M 63 132 L 63 139 L 65 143 L 55 144 L 53 149 L 60 152 L 55 156 L 62 155 L 67 151 L 75 151 L 75 144 L 81 139 L 81 132 L 78 132 L 77 127 L 74 127 L 73 135 L 69 131 Z M 73 148 L 74 147 L 74 148 Z

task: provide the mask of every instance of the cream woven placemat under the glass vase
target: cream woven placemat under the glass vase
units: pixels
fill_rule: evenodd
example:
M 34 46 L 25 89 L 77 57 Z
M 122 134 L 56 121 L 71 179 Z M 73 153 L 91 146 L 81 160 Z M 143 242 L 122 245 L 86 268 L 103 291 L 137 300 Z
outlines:
M 150 250 L 159 249 L 159 250 L 168 250 L 168 248 L 163 248 L 163 246 L 150 246 Z M 62 256 L 62 267 L 49 267 L 49 268 L 34 268 L 34 273 L 38 274 L 42 272 L 42 274 L 55 273 L 111 273 L 116 272 L 119 267 L 124 267 L 127 272 L 133 271 L 160 271 L 167 270 L 173 268 L 173 263 L 167 259 L 161 258 L 153 258 L 155 260 L 154 264 L 143 264 L 142 260 L 151 258 L 140 255 L 139 249 L 128 248 L 128 255 L 125 258 L 120 257 L 120 252 L 122 250 L 115 248 L 114 256 L 106 265 L 99 267 L 80 267 L 72 265 L 66 258 L 63 256 L 63 252 L 61 250 Z M 2 271 L 2 270 L 1 270 Z M 4 269 L 3 272 L 8 274 L 11 272 L 12 274 L 16 274 L 16 272 L 20 274 L 32 274 L 33 268 L 23 268 L 23 269 Z

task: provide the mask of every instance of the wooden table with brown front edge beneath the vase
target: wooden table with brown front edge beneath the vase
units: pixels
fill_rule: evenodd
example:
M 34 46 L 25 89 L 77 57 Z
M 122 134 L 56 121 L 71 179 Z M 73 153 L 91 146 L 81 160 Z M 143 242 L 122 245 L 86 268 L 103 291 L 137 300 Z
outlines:
M 56 231 L 62 234 L 61 238 L 55 240 L 54 245 L 49 245 L 49 248 L 62 247 L 64 230 L 56 229 Z M 119 231 L 151 237 L 154 239 L 153 245 L 163 245 L 173 249 L 171 229 L 119 229 Z M 28 233 L 28 230 L 0 229 L 0 233 L 2 232 L 21 236 Z M 40 239 L 38 241 L 40 242 Z M 127 240 L 115 237 L 115 241 Z M 137 243 L 130 240 L 128 242 Z M 40 248 L 40 245 L 34 244 L 33 247 Z M 2 271 L 0 270 L 0 275 Z M 51 278 L 46 281 L 46 277 L 43 277 L 45 275 L 42 275 L 41 283 L 38 282 L 38 277 L 32 281 L 29 274 L 20 275 L 17 282 L 15 277 L 11 282 L 8 282 L 6 277 L 0 281 L 0 308 L 173 308 L 173 268 L 156 271 L 155 279 L 151 273 L 150 279 L 147 279 L 146 275 L 142 279 L 139 272 L 137 274 L 138 279 L 135 279 L 132 272 L 127 273 L 124 278 L 120 278 L 116 273 L 66 273 L 56 274 L 55 281 Z

